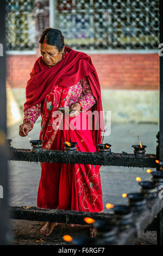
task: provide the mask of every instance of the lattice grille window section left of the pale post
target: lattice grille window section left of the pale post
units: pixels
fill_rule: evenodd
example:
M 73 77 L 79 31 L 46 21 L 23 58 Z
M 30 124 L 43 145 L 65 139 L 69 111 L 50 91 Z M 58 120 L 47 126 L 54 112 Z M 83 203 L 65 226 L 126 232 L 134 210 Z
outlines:
M 7 0 L 7 49 L 33 50 L 35 47 L 34 0 Z

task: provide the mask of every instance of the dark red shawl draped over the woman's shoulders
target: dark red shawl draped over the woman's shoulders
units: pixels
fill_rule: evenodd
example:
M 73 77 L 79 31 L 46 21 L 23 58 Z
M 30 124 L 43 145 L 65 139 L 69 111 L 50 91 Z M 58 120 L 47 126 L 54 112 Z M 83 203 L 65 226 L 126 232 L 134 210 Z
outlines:
M 74 51 L 70 47 L 65 47 L 67 55 L 55 66 L 49 68 L 39 57 L 30 73 L 30 79 L 26 87 L 26 103 L 24 104 L 24 111 L 42 100 L 51 92 L 55 85 L 70 87 L 77 84 L 80 80 L 87 76 L 90 82 L 93 96 L 95 96 L 97 103 L 93 106 L 93 111 L 103 111 L 101 100 L 101 88 L 95 67 L 92 64 L 90 56 L 86 53 Z M 95 123 L 99 120 L 94 118 Z M 99 129 L 95 130 L 95 143 L 99 144 L 103 141 L 102 132 L 104 130 L 103 115 L 100 118 Z

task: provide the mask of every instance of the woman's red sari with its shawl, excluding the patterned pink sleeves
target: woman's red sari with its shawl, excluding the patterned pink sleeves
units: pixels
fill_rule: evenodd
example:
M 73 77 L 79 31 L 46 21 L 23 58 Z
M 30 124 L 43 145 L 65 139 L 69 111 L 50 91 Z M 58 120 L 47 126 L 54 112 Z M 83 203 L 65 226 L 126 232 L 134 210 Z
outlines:
M 42 110 L 42 129 L 40 139 L 44 140 L 43 148 L 64 150 L 63 142 L 78 142 L 77 150 L 95 152 L 96 145 L 103 140 L 104 122 L 93 117 L 93 129 L 73 129 L 73 118 L 56 117 L 59 107 L 66 107 L 71 94 L 71 86 L 87 76 L 96 104 L 89 110 L 102 111 L 101 90 L 95 67 L 85 53 L 73 51 L 66 47 L 67 56 L 52 68 L 37 59 L 31 78 L 27 82 L 27 101 L 24 110 L 29 106 L 41 103 L 53 90 L 52 109 L 47 110 L 46 103 Z M 76 123 L 90 126 L 92 117 L 80 112 L 75 117 Z M 99 124 L 99 122 L 101 122 Z M 99 129 L 95 129 L 95 124 Z M 60 129 L 62 124 L 62 129 Z M 70 129 L 67 129 L 69 127 Z M 72 129 L 71 129 L 72 128 Z M 47 209 L 100 212 L 103 210 L 101 177 L 99 165 L 42 163 L 41 179 L 37 194 L 37 206 Z

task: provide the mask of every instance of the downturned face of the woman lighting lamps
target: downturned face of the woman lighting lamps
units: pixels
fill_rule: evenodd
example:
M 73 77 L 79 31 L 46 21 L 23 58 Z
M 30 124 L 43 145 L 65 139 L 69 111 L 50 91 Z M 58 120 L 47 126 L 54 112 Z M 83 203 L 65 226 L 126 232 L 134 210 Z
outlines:
M 62 53 L 64 53 L 64 48 L 59 52 L 56 46 L 49 44 L 40 44 L 40 52 L 43 58 L 43 61 L 48 66 L 54 66 L 62 59 Z

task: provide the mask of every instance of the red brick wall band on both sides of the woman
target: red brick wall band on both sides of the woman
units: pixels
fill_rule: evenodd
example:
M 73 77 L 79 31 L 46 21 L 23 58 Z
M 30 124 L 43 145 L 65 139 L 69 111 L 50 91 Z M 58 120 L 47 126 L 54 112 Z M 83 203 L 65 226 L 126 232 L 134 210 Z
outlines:
M 101 87 L 105 89 L 158 90 L 159 55 L 92 54 Z M 8 55 L 7 86 L 26 87 L 35 55 Z

